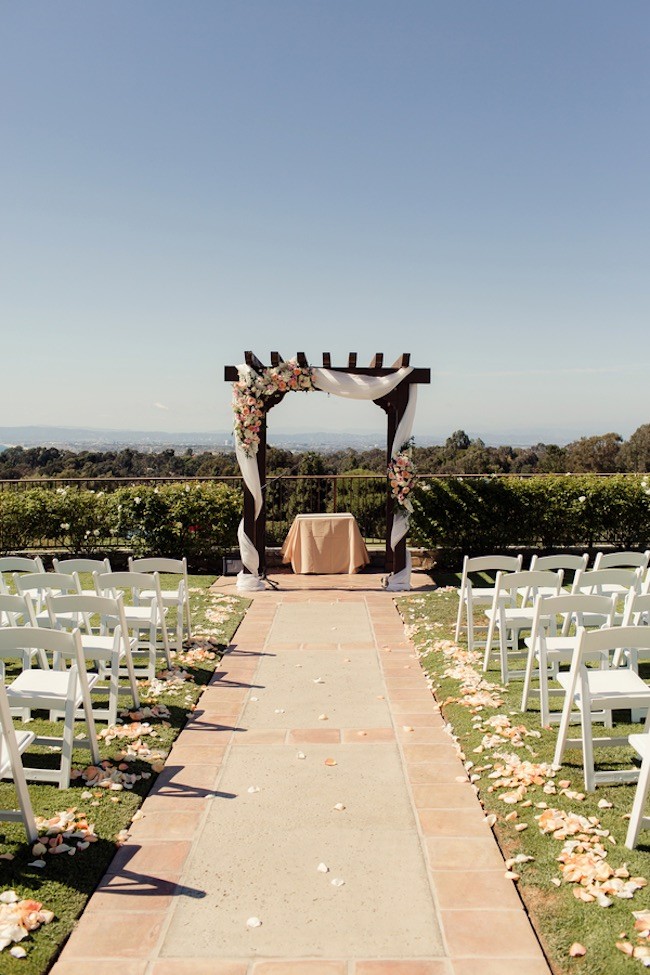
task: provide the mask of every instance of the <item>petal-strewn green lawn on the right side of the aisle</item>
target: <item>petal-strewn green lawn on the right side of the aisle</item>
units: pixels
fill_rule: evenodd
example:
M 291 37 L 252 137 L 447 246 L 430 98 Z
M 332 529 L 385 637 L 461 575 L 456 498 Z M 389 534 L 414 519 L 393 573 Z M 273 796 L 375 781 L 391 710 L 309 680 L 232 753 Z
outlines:
M 486 815 L 495 817 L 493 829 L 504 857 L 514 858 L 522 854 L 532 859 L 516 863 L 513 872 L 519 875 L 516 881 L 519 892 L 528 908 L 535 929 L 544 946 L 555 973 L 575 973 L 584 975 L 629 975 L 640 971 L 641 960 L 628 958 L 616 947 L 617 942 L 637 944 L 634 933 L 633 911 L 650 908 L 650 888 L 636 890 L 630 899 L 611 896 L 611 905 L 599 906 L 597 901 L 585 903 L 578 900 L 575 891 L 583 890 L 580 884 L 566 882 L 561 874 L 562 864 L 558 862 L 565 839 L 543 834 L 536 817 L 550 814 L 540 804 L 566 813 L 583 817 L 593 817 L 590 823 L 592 832 L 579 830 L 574 839 L 586 836 L 587 845 L 600 843 L 606 851 L 605 864 L 631 878 L 650 880 L 650 831 L 641 834 L 641 843 L 636 850 L 628 850 L 623 844 L 627 831 L 629 814 L 634 799 L 634 785 L 599 786 L 595 793 L 583 796 L 582 752 L 569 750 L 565 753 L 565 764 L 551 778 L 542 777 L 539 784 L 531 784 L 517 794 L 518 801 L 507 803 L 502 796 L 513 798 L 517 783 L 505 782 L 506 776 L 496 776 L 498 767 L 507 760 L 501 756 L 516 754 L 520 761 L 534 764 L 550 763 L 556 740 L 556 726 L 553 730 L 542 729 L 537 710 L 521 713 L 522 682 L 513 680 L 509 686 L 496 692 L 502 704 L 489 704 L 481 710 L 465 706 L 460 693 L 460 674 L 449 673 L 454 663 L 462 662 L 462 654 L 453 655 L 453 648 L 447 647 L 445 656 L 441 641 L 453 640 L 458 595 L 449 591 L 449 585 L 458 585 L 457 576 L 436 574 L 440 588 L 432 593 L 412 594 L 398 600 L 399 609 L 405 622 L 411 628 L 412 638 L 422 655 L 422 664 L 430 675 L 436 698 L 442 704 L 445 719 L 450 723 L 453 734 L 457 736 L 466 767 L 478 789 L 478 795 Z M 481 632 L 476 647 L 482 658 L 484 641 Z M 461 640 L 461 649 L 467 647 Z M 471 663 L 474 671 L 481 672 L 482 662 Z M 500 686 L 500 673 L 494 666 L 485 675 L 497 687 Z M 646 672 L 642 676 L 648 678 Z M 537 703 L 533 704 L 537 707 Z M 551 703 L 552 708 L 559 704 Z M 500 721 L 490 719 L 500 716 Z M 629 723 L 629 712 L 615 715 L 616 733 L 628 734 L 641 731 L 640 725 Z M 505 720 L 501 720 L 505 719 Z M 489 722 L 489 724 L 488 724 Z M 505 729 L 500 738 L 493 736 L 499 725 Z M 495 727 L 496 725 L 496 727 Z M 515 740 L 507 736 L 518 727 Z M 602 727 L 602 726 L 601 726 Z M 539 737 L 530 733 L 539 732 Z M 572 726 L 572 734 L 577 728 Z M 577 734 L 576 734 L 577 736 Z M 603 749 L 596 751 L 597 761 L 604 768 L 630 766 L 635 753 L 632 749 Z M 471 764 L 470 764 L 471 763 Z M 521 768 L 521 766 L 518 766 Z M 568 786 L 561 783 L 568 782 Z M 545 791 L 546 788 L 546 791 Z M 583 796 L 583 798 L 580 798 Z M 599 836 L 593 830 L 607 831 Z M 577 849 L 577 848 L 576 848 Z M 576 852 L 574 850 L 573 852 Z M 607 867 L 605 867 L 607 869 Z M 560 880 L 555 886 L 553 880 Z M 626 937 L 625 937 L 625 936 Z M 582 957 L 571 957 L 571 946 L 578 942 L 586 948 Z M 644 942 L 646 945 L 648 942 Z

